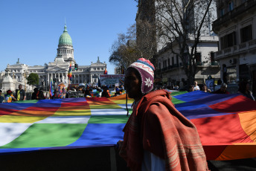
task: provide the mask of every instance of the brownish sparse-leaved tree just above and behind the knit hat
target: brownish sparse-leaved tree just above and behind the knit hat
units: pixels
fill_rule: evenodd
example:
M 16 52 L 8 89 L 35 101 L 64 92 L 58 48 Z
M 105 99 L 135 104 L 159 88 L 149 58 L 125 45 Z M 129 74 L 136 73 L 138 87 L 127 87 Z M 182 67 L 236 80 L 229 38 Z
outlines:
M 120 68 L 127 68 L 140 57 L 153 59 L 156 45 L 151 41 L 151 28 L 147 21 L 136 22 L 127 29 L 127 33 L 119 33 L 118 40 L 112 45 L 109 62 Z M 141 35 L 139 37 L 144 38 L 137 40 L 138 33 Z

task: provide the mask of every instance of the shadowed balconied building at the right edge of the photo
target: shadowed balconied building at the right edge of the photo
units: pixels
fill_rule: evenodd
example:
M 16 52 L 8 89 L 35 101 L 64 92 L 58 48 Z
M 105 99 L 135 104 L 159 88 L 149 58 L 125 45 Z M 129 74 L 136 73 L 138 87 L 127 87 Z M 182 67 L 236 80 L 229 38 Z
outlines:
M 256 1 L 219 0 L 213 30 L 220 38 L 215 59 L 225 83 L 252 81 L 256 94 Z

